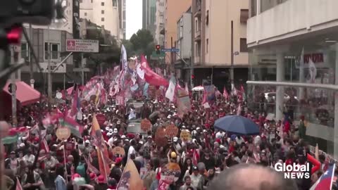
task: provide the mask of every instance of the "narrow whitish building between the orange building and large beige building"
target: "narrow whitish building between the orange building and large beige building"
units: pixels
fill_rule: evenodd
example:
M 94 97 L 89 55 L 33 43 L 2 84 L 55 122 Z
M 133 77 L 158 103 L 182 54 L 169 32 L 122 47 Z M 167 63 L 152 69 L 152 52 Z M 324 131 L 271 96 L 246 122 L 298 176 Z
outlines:
M 192 8 L 183 13 L 177 21 L 176 48 L 180 51 L 176 55 L 175 75 L 177 78 L 190 83 L 192 61 Z

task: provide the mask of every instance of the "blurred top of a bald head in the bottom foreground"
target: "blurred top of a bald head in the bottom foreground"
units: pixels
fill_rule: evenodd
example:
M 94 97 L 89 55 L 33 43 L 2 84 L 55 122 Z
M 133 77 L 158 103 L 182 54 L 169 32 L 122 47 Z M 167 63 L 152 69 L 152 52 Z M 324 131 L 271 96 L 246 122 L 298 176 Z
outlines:
M 224 170 L 208 186 L 212 190 L 298 190 L 296 183 L 270 167 L 239 164 Z

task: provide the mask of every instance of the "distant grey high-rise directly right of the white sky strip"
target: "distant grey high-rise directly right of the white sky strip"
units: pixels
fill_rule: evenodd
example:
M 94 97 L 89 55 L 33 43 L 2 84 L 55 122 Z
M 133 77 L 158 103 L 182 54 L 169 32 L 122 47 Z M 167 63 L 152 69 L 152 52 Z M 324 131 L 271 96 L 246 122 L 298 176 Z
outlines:
M 156 35 L 156 0 L 142 0 L 142 28 Z

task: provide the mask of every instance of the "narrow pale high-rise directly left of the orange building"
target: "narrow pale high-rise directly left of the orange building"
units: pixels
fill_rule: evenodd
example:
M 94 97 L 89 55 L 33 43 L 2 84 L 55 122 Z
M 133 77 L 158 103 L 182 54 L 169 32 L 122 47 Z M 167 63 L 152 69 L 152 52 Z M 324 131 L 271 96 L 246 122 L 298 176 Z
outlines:
M 156 1 L 156 30 L 154 39 L 156 44 L 164 46 L 164 0 Z

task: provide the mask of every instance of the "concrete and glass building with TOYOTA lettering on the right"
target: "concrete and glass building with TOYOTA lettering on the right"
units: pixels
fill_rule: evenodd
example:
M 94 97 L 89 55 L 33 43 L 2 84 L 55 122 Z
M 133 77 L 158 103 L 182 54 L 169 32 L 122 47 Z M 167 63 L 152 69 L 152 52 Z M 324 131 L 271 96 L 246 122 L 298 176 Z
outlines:
M 277 120 L 303 115 L 308 141 L 336 159 L 337 6 L 334 0 L 250 1 L 247 27 L 251 108 Z

